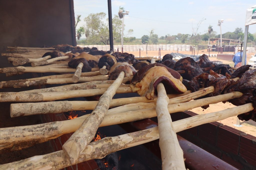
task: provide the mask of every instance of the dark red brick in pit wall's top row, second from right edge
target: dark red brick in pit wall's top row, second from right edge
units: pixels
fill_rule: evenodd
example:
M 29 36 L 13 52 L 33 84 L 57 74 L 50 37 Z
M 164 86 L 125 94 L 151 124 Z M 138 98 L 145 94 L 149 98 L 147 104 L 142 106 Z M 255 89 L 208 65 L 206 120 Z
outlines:
M 243 135 L 242 131 L 236 130 L 229 126 L 218 127 L 217 147 L 227 153 L 238 154 L 240 136 Z

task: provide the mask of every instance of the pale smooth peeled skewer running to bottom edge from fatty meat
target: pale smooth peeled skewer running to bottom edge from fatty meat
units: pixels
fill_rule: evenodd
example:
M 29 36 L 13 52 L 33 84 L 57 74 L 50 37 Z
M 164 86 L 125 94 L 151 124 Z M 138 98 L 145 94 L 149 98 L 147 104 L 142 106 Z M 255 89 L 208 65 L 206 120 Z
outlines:
M 169 98 L 163 83 L 157 85 L 156 114 L 158 120 L 159 146 L 161 150 L 162 169 L 185 169 L 183 151 L 179 145 L 172 118 L 168 112 Z M 175 148 L 175 149 L 174 149 Z

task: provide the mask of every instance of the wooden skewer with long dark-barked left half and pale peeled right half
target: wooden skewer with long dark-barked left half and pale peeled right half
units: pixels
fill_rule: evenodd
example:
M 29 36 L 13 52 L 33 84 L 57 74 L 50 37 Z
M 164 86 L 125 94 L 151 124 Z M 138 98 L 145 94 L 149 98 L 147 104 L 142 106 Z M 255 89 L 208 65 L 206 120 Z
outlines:
M 91 76 L 91 77 L 80 77 L 79 82 L 89 82 L 95 80 L 108 80 L 107 76 L 98 75 L 98 76 Z M 41 86 L 46 84 L 65 84 L 65 83 L 73 83 L 73 78 L 52 78 L 52 79 L 40 79 L 40 80 L 14 80 L 8 82 L 1 82 L 1 88 L 20 88 L 20 87 L 29 87 L 29 86 Z M 8 93 L 8 92 L 7 92 Z M 11 92 L 10 92 L 11 93 Z M 1 97 L 0 97 L 1 98 Z

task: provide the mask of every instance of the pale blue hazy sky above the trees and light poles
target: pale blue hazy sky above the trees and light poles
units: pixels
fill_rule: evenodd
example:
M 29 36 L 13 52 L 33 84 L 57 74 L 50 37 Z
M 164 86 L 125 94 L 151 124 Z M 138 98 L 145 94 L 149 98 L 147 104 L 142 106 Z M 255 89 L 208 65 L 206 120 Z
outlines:
M 193 28 L 202 19 L 198 29 L 200 34 L 206 33 L 209 25 L 220 34 L 220 27 L 217 26 L 219 19 L 224 19 L 222 34 L 233 32 L 237 27 L 244 31 L 246 10 L 256 5 L 255 0 L 112 0 L 111 3 L 112 17 L 118 14 L 120 6 L 130 11 L 124 19 L 124 35 L 127 35 L 127 30 L 133 29 L 129 37 L 136 38 L 149 35 L 152 29 L 158 37 L 192 34 Z M 75 17 L 81 15 L 82 18 L 78 27 L 85 26 L 83 19 L 90 13 L 105 12 L 108 17 L 108 3 L 107 0 L 74 0 L 74 12 Z M 256 24 L 249 26 L 249 32 L 256 33 Z M 85 35 L 81 38 L 85 38 Z

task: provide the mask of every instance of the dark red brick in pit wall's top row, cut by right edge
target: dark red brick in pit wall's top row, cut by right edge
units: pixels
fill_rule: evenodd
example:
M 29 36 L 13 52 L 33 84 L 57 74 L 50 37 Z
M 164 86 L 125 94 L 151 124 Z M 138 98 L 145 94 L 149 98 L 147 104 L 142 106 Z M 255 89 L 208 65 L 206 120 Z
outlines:
M 256 166 L 256 137 L 252 135 L 242 135 L 240 138 L 239 155 L 248 163 Z

